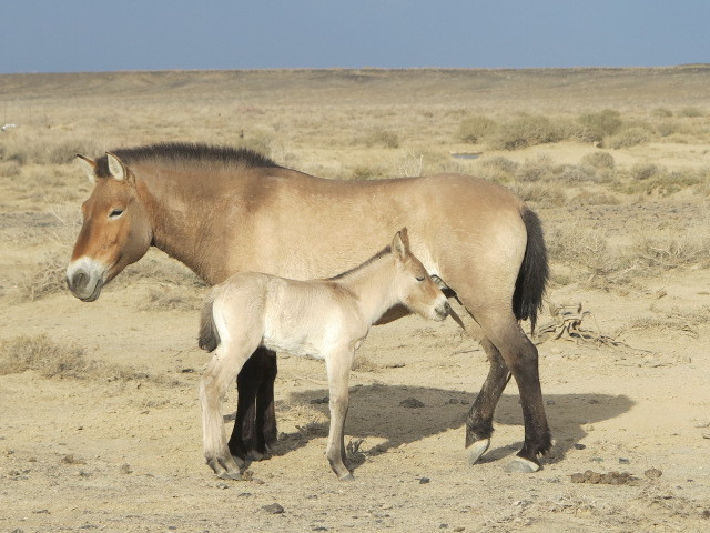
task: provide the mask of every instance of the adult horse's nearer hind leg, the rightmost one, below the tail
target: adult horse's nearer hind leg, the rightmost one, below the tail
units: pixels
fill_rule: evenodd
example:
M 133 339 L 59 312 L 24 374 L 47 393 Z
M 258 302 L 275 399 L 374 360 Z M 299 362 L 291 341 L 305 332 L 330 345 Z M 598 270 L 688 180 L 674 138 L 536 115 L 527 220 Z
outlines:
M 507 369 L 513 373 L 523 403 L 525 442 L 516 460 L 506 470 L 536 472 L 540 469 L 538 456 L 547 452 L 551 445 L 542 403 L 537 348 L 523 332 L 513 313 L 477 314 L 476 319 L 486 338 L 498 349 Z M 497 379 L 500 380 L 503 370 L 496 372 Z

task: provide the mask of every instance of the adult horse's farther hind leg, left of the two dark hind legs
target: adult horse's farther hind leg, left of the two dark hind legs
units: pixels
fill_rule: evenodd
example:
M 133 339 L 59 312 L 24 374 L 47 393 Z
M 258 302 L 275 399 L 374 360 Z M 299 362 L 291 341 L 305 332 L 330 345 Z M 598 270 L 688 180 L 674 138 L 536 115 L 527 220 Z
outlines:
M 480 345 L 488 355 L 490 369 L 466 420 L 466 447 L 469 449 L 471 464 L 476 463 L 490 446 L 493 415 L 500 394 L 510 380 L 510 372 L 498 349 L 488 339 L 483 339 Z

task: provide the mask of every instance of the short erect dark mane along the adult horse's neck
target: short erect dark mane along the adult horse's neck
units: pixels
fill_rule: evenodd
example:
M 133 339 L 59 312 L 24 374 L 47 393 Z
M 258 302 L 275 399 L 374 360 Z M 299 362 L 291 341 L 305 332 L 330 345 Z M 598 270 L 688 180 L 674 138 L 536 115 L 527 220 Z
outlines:
M 111 150 L 126 164 L 141 161 L 185 161 L 196 163 L 223 164 L 241 168 L 278 168 L 273 160 L 247 148 L 215 147 L 191 142 L 165 142 L 144 147 L 120 148 Z M 97 159 L 97 175 L 108 178 L 109 163 L 105 155 Z

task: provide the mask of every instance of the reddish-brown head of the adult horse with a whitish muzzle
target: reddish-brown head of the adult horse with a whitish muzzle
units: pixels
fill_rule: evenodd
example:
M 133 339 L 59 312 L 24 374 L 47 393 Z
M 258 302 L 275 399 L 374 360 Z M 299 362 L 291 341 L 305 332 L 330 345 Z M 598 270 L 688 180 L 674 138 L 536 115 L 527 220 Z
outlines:
M 99 161 L 78 157 L 94 188 L 81 207 L 67 283 L 74 296 L 93 302 L 105 283 L 145 254 L 153 232 L 131 170 L 111 153 Z

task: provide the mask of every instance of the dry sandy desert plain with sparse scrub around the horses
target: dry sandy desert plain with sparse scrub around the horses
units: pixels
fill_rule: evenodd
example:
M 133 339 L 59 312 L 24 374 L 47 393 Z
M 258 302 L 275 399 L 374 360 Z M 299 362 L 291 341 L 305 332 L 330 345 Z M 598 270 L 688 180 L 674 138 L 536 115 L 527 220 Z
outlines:
M 708 531 L 709 88 L 708 66 L 0 76 L 0 531 Z M 63 279 L 91 191 L 74 155 L 165 141 L 337 180 L 463 172 L 523 197 L 551 265 L 532 336 L 542 470 L 504 470 L 523 441 L 514 382 L 469 464 L 486 355 L 450 320 L 406 318 L 358 352 L 354 482 L 325 459 L 323 363 L 287 354 L 276 453 L 216 479 L 204 283 L 156 250 L 93 303 Z

